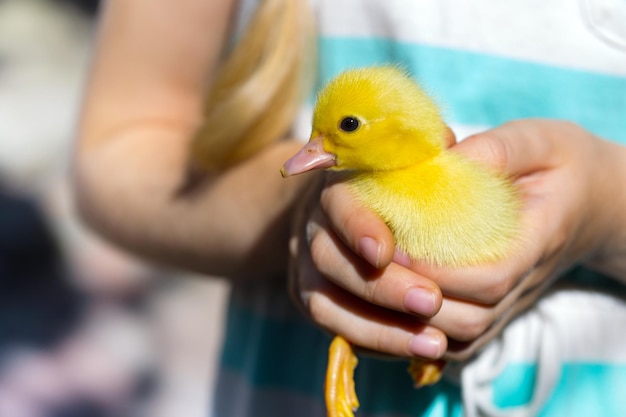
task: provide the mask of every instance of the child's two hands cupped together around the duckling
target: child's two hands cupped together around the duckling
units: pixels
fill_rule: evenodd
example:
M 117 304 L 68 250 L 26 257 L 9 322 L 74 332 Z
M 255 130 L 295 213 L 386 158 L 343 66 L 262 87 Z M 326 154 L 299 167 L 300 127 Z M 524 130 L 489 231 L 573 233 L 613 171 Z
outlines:
M 514 253 L 456 270 L 411 262 L 345 185 L 329 181 L 321 198 L 322 187 L 311 191 L 292 246 L 293 289 L 315 322 L 367 349 L 464 359 L 576 263 L 626 281 L 625 148 L 569 123 L 524 120 L 453 149 L 518 185 Z

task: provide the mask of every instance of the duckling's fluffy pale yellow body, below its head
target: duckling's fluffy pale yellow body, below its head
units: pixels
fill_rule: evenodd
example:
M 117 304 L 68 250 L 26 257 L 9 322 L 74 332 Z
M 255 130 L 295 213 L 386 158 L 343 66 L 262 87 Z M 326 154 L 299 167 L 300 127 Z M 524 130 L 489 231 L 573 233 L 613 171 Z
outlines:
M 462 267 L 511 251 L 519 203 L 512 184 L 451 152 L 403 170 L 355 175 L 351 187 L 412 259 Z

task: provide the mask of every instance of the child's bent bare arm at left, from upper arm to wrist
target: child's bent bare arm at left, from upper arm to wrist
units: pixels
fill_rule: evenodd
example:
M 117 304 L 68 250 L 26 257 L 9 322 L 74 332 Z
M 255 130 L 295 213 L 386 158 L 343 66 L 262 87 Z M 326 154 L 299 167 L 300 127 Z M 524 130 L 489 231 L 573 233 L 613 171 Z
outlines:
M 263 280 L 284 276 L 290 212 L 313 179 L 280 177 L 299 144 L 278 141 L 179 194 L 236 4 L 103 3 L 75 150 L 75 191 L 83 218 L 134 253 Z

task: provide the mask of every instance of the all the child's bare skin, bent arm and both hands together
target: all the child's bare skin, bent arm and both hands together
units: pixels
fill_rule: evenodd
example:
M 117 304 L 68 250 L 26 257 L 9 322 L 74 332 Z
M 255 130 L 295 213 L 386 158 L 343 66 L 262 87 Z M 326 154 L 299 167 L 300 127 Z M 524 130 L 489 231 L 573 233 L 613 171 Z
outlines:
M 400 356 L 466 357 L 574 263 L 624 281 L 626 151 L 563 122 L 519 121 L 454 146 L 516 178 L 524 193 L 524 245 L 489 267 L 435 270 L 400 254 L 391 262 L 391 233 L 342 184 L 280 177 L 301 146 L 293 140 L 179 195 L 235 6 L 104 3 L 74 158 L 78 208 L 102 235 L 156 262 L 233 280 L 290 273 L 316 323 Z

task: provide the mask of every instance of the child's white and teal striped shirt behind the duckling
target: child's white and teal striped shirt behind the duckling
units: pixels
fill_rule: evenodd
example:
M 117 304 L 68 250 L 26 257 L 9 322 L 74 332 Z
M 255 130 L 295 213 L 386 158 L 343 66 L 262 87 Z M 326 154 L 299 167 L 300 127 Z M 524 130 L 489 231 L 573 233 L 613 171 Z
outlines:
M 254 5 L 254 1 L 248 3 Z M 318 85 L 406 68 L 462 138 L 509 120 L 570 120 L 626 145 L 624 0 L 315 0 Z M 310 132 L 310 105 L 296 123 Z M 623 185 L 616 184 L 616 190 Z M 415 390 L 407 363 L 360 358 L 358 416 L 626 416 L 626 288 L 575 268 L 477 357 Z M 330 335 L 285 278 L 235 285 L 214 417 L 325 415 Z

